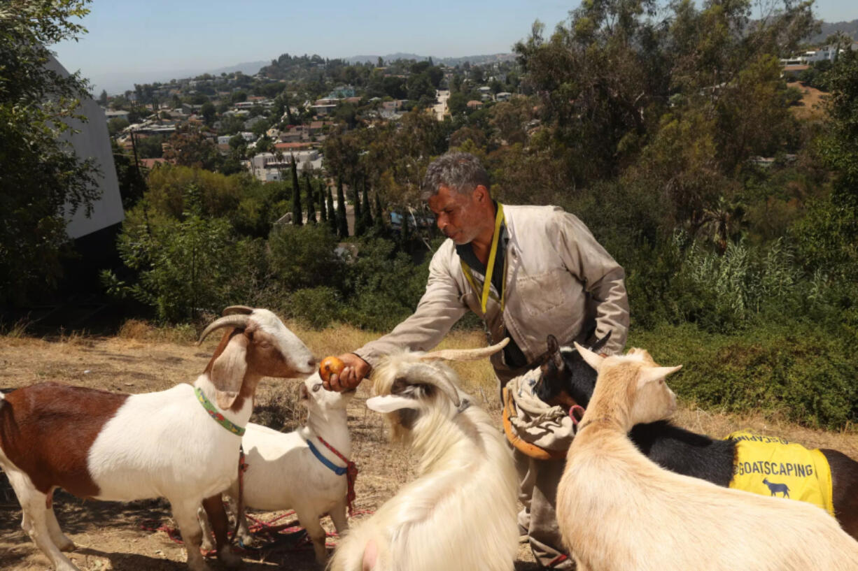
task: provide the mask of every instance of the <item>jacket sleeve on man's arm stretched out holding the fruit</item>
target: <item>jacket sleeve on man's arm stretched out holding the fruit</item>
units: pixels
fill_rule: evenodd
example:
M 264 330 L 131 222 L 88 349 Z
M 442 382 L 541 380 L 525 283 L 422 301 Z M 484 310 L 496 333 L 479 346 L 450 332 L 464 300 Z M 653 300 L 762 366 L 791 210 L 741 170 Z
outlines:
M 354 353 L 373 368 L 378 359 L 402 349 L 428 351 L 444 339 L 444 335 L 468 311 L 462 292 L 450 274 L 452 243 L 445 243 L 429 264 L 426 292 L 420 298 L 414 314 L 384 337 L 371 341 Z

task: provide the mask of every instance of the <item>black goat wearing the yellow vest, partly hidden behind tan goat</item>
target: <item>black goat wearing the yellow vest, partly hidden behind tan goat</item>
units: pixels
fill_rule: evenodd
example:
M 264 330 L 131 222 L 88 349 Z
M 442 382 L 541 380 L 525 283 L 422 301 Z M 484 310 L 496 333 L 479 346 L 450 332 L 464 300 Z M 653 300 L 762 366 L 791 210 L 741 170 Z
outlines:
M 589 349 L 598 352 L 610 333 Z M 548 350 L 541 359 L 541 375 L 534 392 L 552 405 L 586 407 L 595 388 L 596 372 L 574 347 L 561 347 L 548 335 Z M 732 440 L 716 440 L 681 429 L 660 420 L 636 424 L 629 432 L 631 442 L 659 466 L 713 484 L 728 486 L 733 478 L 736 445 Z M 831 466 L 834 513 L 843 530 L 858 539 L 858 462 L 830 448 L 819 450 Z

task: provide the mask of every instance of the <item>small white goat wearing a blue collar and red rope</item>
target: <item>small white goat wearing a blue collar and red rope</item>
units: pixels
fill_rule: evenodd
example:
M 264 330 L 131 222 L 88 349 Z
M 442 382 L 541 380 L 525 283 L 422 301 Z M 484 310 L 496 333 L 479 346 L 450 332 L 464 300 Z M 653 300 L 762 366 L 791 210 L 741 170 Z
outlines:
M 299 401 L 307 407 L 304 426 L 293 432 L 278 432 L 259 424 L 247 424 L 242 439 L 245 449 L 244 475 L 245 508 L 267 511 L 294 509 L 298 520 L 307 530 L 320 564 L 327 559 L 325 531 L 319 518 L 329 514 L 340 534 L 348 529 L 347 464 L 334 452 L 348 458 L 352 442 L 348 435 L 346 406 L 354 391 L 335 393 L 322 388 L 316 373 L 308 377 L 299 389 Z M 239 480 L 235 478 L 228 495 L 239 498 Z M 239 518 L 238 537 L 251 541 L 244 514 Z M 203 548 L 209 546 L 207 520 L 201 514 Z M 208 540 L 208 541 L 207 541 Z

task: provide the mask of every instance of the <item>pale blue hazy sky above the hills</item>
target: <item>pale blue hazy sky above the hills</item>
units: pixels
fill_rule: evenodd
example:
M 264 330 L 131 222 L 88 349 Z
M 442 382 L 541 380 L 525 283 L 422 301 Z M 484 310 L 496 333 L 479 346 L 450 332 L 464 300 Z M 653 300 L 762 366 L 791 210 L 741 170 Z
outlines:
M 106 74 L 217 69 L 281 53 L 323 57 L 508 52 L 539 19 L 550 30 L 578 5 L 557 0 L 94 0 L 88 33 L 52 46 L 61 63 Z M 817 0 L 825 21 L 858 18 L 855 0 Z M 164 78 L 169 79 L 169 78 Z

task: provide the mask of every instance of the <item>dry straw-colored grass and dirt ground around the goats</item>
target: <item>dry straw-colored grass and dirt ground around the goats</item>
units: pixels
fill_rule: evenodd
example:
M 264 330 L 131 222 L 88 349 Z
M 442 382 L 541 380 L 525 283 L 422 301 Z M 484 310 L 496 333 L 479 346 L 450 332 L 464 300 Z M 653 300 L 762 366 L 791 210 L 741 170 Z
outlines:
M 360 346 L 372 335 L 349 328 L 322 332 L 293 330 L 305 340 L 317 356 L 339 354 Z M 20 335 L 0 336 L 0 391 L 9 392 L 41 381 L 103 388 L 118 392 L 141 393 L 171 387 L 177 382 L 193 382 L 205 368 L 215 347 L 208 340 L 197 347 L 190 342 L 193 332 L 179 335 L 178 340 L 144 324 L 131 323 L 119 337 L 63 337 L 54 340 L 34 339 Z M 481 334 L 457 333 L 449 336 L 444 346 L 481 346 Z M 463 388 L 483 401 L 483 406 L 498 418 L 492 373 L 487 364 L 465 364 L 458 368 Z M 268 379 L 258 393 L 256 420 L 292 430 L 300 421 L 294 406 L 297 382 Z M 414 459 L 408 451 L 391 447 L 386 442 L 381 419 L 368 412 L 364 401 L 367 388 L 361 388 L 348 411 L 348 424 L 353 437 L 353 460 L 360 469 L 357 479 L 355 509 L 372 511 L 396 493 L 398 487 L 414 477 Z M 751 427 L 770 434 L 777 433 L 810 446 L 838 448 L 858 458 L 858 436 L 802 429 L 762 416 L 738 418 L 704 412 L 684 406 L 679 424 L 710 435 L 726 435 L 731 430 Z M 165 532 L 154 531 L 161 525 L 172 526 L 169 508 L 160 500 L 131 502 L 82 501 L 58 491 L 55 509 L 63 531 L 77 544 L 70 554 L 79 568 L 87 571 L 107 569 L 184 571 L 185 553 Z M 255 513 L 261 520 L 272 520 L 282 513 Z M 360 519 L 361 516 L 358 516 Z M 363 517 L 366 517 L 364 515 Z M 290 520 L 291 518 L 287 518 Z M 329 520 L 326 528 L 333 530 Z M 0 569 L 24 571 L 48 568 L 45 556 L 21 532 L 21 511 L 4 475 L 0 475 Z M 331 538 L 331 544 L 335 538 Z M 265 556 L 245 556 L 246 569 L 269 569 L 283 565 L 291 569 L 315 569 L 312 550 L 304 546 L 280 550 Z M 213 568 L 221 568 L 212 562 Z M 519 550 L 518 571 L 537 567 L 529 550 Z

